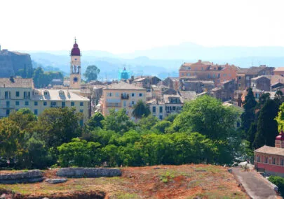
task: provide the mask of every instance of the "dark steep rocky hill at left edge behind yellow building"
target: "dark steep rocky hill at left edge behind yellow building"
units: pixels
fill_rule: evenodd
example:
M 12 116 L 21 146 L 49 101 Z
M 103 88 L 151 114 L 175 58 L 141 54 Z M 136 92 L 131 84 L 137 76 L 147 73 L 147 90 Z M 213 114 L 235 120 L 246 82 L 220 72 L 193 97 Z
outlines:
M 29 54 L 0 50 L 0 78 L 22 75 L 32 77 L 32 59 Z

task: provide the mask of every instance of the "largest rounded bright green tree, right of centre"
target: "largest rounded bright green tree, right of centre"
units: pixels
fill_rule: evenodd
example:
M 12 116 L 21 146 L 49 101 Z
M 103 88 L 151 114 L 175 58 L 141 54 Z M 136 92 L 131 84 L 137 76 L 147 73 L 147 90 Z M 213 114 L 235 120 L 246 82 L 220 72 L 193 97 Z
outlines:
M 170 126 L 172 132 L 198 132 L 212 140 L 227 140 L 236 136 L 235 124 L 240 113 L 210 96 L 201 96 L 184 104 Z

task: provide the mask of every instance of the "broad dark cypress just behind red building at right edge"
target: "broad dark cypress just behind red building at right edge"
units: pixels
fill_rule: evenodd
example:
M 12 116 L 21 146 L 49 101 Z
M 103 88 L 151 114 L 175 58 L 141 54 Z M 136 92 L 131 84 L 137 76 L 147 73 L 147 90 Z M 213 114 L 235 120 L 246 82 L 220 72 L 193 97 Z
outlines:
M 257 133 L 252 146 L 255 149 L 263 145 L 274 146 L 276 135 L 278 135 L 278 126 L 275 120 L 278 113 L 278 105 L 273 100 L 268 100 L 262 107 L 257 119 Z

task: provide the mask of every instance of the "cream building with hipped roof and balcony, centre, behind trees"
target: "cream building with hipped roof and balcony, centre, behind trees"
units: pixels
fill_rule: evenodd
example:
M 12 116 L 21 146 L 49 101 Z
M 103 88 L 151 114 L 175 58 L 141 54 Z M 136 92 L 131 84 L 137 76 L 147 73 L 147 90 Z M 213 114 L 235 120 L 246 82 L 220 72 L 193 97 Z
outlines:
M 111 108 L 116 110 L 125 108 L 127 115 L 134 119 L 133 105 L 139 100 L 146 102 L 146 92 L 146 89 L 126 82 L 108 85 L 102 89 L 102 115 L 109 115 Z

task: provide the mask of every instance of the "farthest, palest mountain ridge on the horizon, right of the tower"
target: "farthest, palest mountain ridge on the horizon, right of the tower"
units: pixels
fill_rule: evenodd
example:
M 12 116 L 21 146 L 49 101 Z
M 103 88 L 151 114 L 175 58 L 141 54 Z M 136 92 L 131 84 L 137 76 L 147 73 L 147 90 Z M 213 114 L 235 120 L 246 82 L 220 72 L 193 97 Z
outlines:
M 151 50 L 138 50 L 119 54 L 123 58 L 146 56 L 151 59 L 233 59 L 238 57 L 284 57 L 284 47 L 204 47 L 194 43 L 181 43 Z

